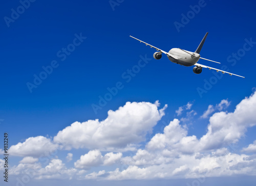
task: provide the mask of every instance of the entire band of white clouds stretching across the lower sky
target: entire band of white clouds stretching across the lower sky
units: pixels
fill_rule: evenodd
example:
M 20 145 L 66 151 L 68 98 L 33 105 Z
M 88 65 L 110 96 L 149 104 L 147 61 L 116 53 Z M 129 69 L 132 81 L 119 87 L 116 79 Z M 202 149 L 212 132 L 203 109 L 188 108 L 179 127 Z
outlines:
M 256 125 L 256 93 L 243 99 L 233 112 L 223 112 L 229 104 L 222 100 L 210 107 L 213 111 L 208 113 L 213 115 L 201 138 L 189 135 L 182 119 L 173 119 L 146 142 L 145 136 L 152 132 L 167 106 L 158 109 L 158 102 L 127 102 L 117 111 L 109 111 L 103 121 L 71 124 L 59 131 L 53 141 L 39 136 L 11 146 L 13 155 L 24 157 L 11 174 L 25 174 L 32 169 L 36 179 L 105 180 L 255 176 L 256 156 L 250 153 L 256 152 L 256 141 L 244 148 L 238 147 L 237 142 Z M 191 106 L 189 103 L 183 109 Z M 195 116 L 196 112 L 188 113 Z M 145 146 L 140 146 L 143 141 Z M 65 151 L 64 160 L 73 166 L 67 167 L 52 156 L 49 161 L 40 162 L 41 154 L 56 148 Z M 67 154 L 66 150 L 72 148 L 89 151 L 78 158 L 73 151 Z M 134 151 L 127 151 L 131 149 Z

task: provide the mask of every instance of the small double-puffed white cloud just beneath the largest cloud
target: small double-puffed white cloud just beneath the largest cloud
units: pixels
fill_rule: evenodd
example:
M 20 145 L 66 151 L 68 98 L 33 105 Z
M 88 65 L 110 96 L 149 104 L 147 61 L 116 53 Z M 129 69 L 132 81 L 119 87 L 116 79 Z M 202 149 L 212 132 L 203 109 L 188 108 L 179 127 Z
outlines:
M 122 157 L 122 153 L 106 153 L 102 156 L 99 150 L 91 150 L 87 154 L 81 155 L 80 159 L 74 163 L 75 168 L 90 169 L 100 165 L 109 166 L 117 163 Z

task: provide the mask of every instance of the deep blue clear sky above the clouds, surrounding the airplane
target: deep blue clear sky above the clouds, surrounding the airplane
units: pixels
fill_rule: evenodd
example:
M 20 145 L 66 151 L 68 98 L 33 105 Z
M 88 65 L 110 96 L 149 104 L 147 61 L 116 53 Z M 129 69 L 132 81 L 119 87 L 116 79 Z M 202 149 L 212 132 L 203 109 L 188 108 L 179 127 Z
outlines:
M 117 110 L 127 101 L 159 100 L 161 107 L 168 104 L 163 121 L 176 117 L 175 111 L 193 102 L 199 118 L 209 104 L 222 99 L 231 101 L 228 111 L 252 93 L 255 87 L 256 46 L 245 52 L 236 65 L 227 57 L 243 48 L 245 39 L 255 42 L 254 1 L 209 1 L 180 32 L 174 22 L 181 22 L 190 5 L 199 1 L 124 1 L 113 11 L 109 1 L 35 1 L 8 27 L 4 17 L 11 17 L 19 1 L 2 2 L 0 8 L 1 68 L 0 68 L 0 124 L 1 131 L 9 132 L 10 145 L 24 142 L 29 137 L 55 136 L 59 130 L 75 121 L 105 119 L 109 110 Z M 156 61 L 155 49 L 130 38 L 132 35 L 165 51 L 180 47 L 195 51 L 206 32 L 209 32 L 200 55 L 221 62 L 200 60 L 215 68 L 226 65 L 229 72 L 245 78 L 224 74 L 216 85 L 199 95 L 213 76 L 203 69 L 198 75 L 193 67 L 170 62 L 166 56 Z M 73 42 L 75 34 L 87 37 L 67 59 L 61 61 L 57 52 Z M 256 45 L 256 44 L 254 44 Z M 138 64 L 141 56 L 152 60 L 126 83 L 122 74 Z M 27 83 L 33 83 L 42 66 L 56 60 L 59 64 L 32 93 Z M 108 101 L 98 113 L 92 104 L 99 96 L 122 82 L 124 88 Z M 189 133 L 201 137 L 207 120 L 198 119 Z M 158 131 L 161 125 L 155 127 Z M 243 146 L 255 139 L 255 128 L 242 140 Z

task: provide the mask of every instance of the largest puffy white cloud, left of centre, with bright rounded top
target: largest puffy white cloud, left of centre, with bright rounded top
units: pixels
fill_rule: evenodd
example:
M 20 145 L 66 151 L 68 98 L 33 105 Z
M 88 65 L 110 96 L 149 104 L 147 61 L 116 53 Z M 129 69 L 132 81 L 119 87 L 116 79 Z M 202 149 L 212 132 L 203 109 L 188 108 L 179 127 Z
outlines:
M 62 144 L 66 149 L 125 149 L 131 144 L 144 141 L 146 134 L 164 116 L 167 105 L 160 110 L 158 105 L 158 102 L 126 102 L 117 111 L 109 111 L 103 121 L 89 120 L 71 124 L 58 132 L 54 142 Z

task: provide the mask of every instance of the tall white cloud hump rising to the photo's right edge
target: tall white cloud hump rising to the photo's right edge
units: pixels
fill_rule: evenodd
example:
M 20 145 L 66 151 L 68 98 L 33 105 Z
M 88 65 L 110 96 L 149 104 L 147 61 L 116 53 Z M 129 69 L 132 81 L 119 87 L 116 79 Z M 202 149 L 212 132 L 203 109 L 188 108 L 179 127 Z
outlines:
M 219 112 L 209 119 L 208 131 L 200 139 L 200 148 L 218 149 L 236 143 L 247 128 L 256 124 L 256 93 L 243 99 L 233 113 Z

